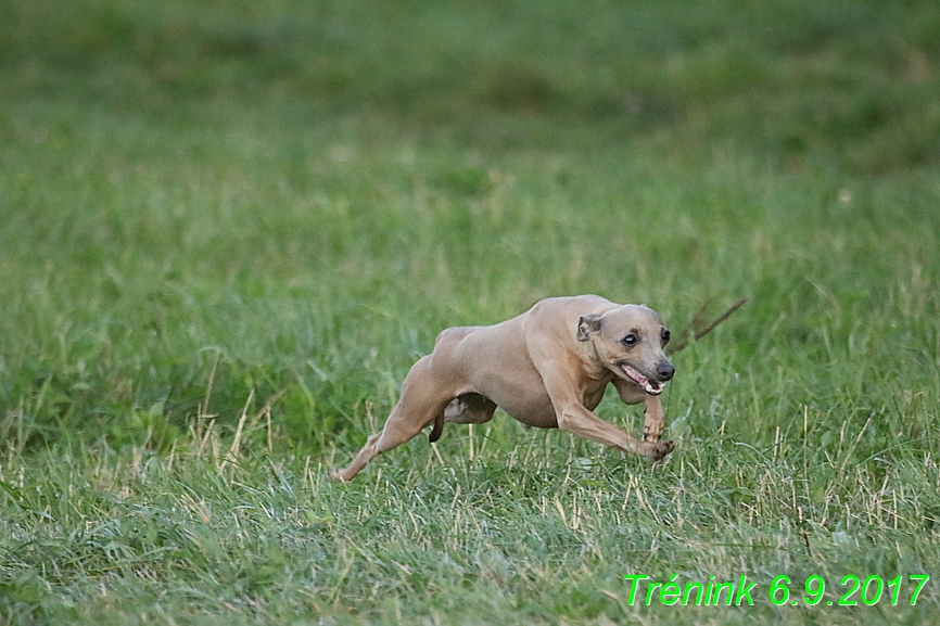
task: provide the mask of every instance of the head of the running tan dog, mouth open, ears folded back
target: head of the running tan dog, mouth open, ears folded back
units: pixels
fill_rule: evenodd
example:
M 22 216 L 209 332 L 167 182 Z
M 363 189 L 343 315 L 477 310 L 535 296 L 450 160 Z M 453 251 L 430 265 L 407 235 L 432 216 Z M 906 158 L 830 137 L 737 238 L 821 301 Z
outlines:
M 604 314 L 581 316 L 577 341 L 593 342 L 602 365 L 618 376 L 636 383 L 643 391 L 659 395 L 675 368 L 662 349 L 669 329 L 651 308 L 623 305 Z

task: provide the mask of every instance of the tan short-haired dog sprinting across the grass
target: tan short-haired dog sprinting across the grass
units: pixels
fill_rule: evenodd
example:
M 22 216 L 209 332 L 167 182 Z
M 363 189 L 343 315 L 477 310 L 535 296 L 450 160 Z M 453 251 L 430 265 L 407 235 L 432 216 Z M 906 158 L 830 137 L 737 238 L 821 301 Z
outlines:
M 663 353 L 669 330 L 646 306 L 596 295 L 547 298 L 490 327 L 447 329 L 434 350 L 405 378 L 398 404 L 381 433 L 369 437 L 334 480 L 351 481 L 380 452 L 434 423 L 481 424 L 504 411 L 529 426 L 561 429 L 650 459 L 673 449 L 660 442 L 659 394 L 675 368 Z M 595 416 L 608 383 L 627 405 L 646 401 L 644 440 Z

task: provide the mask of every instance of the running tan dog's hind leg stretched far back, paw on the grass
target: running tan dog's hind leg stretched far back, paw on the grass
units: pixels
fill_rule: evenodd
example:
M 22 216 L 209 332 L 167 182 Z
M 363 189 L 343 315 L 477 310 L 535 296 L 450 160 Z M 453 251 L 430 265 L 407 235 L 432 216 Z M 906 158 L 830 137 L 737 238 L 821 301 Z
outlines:
M 371 435 L 353 461 L 343 469 L 333 470 L 330 478 L 352 481 L 377 455 L 401 446 L 444 413 L 454 395 L 442 388 L 431 367 L 431 356 L 423 357 L 411 367 L 402 384 L 402 396 L 392 409 L 382 432 Z

